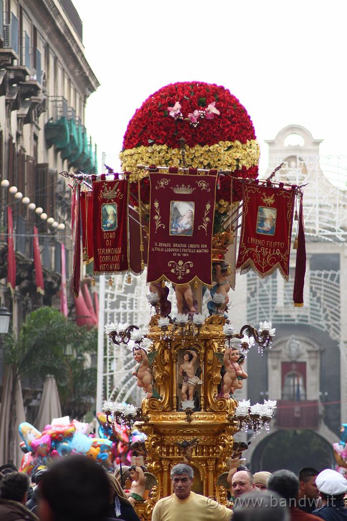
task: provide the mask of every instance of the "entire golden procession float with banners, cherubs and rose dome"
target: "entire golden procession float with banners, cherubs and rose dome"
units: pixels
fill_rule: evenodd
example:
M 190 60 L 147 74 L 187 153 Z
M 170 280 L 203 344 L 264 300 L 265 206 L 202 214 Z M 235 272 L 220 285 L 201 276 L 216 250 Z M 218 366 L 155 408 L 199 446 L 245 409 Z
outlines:
M 143 518 L 171 493 L 170 469 L 182 461 L 194 469 L 193 490 L 228 504 L 226 473 L 247 448 L 233 436 L 268 429 L 276 407 L 233 398 L 247 378 L 247 351 L 270 348 L 275 329 L 264 321 L 235 331 L 230 290 L 237 271 L 267 277 L 279 270 L 288 280 L 293 240 L 293 305 L 303 305 L 303 190 L 277 182 L 276 171 L 258 179 L 259 145 L 246 109 L 229 90 L 204 82 L 149 96 L 128 124 L 120 157 L 121 173 L 62 172 L 73 187 L 75 295 L 81 258 L 109 284 L 147 270 L 148 331 L 106 325 L 114 349 L 133 351 L 129 378 L 143 389 L 142 404 L 106 401 L 103 421 L 146 435 L 133 450 L 146 486 L 131 495 Z

